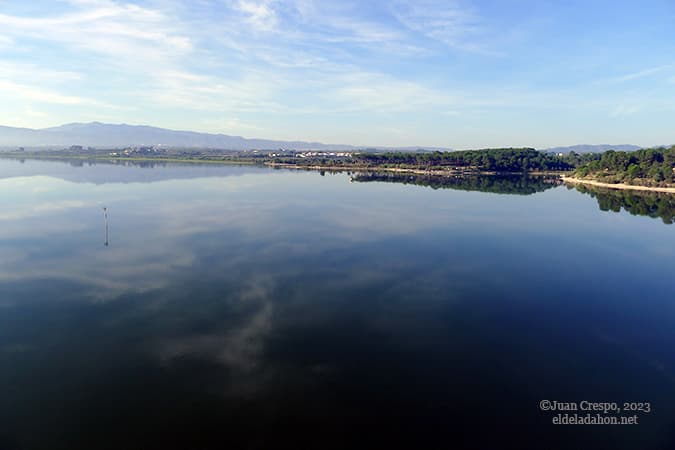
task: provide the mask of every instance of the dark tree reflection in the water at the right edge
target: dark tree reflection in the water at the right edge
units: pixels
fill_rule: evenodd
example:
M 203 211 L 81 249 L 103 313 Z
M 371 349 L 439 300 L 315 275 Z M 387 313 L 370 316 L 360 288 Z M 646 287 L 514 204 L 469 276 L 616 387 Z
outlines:
M 675 223 L 675 195 L 663 192 L 591 188 L 584 185 L 576 185 L 575 188 L 597 199 L 598 207 L 602 211 L 619 212 L 623 208 L 634 216 L 661 218 L 663 223 Z

